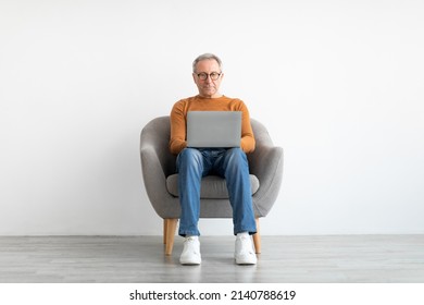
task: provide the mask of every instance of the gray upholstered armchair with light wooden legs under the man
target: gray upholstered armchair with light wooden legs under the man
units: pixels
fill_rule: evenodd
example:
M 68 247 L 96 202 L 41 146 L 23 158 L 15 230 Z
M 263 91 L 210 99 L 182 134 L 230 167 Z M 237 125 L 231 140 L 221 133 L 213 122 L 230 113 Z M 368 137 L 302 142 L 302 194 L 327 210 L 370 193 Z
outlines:
M 261 252 L 259 218 L 265 217 L 277 198 L 283 180 L 283 148 L 274 146 L 263 124 L 251 119 L 255 149 L 248 154 L 253 211 L 258 233 L 253 235 L 257 253 Z M 142 178 L 149 200 L 163 221 L 165 254 L 171 255 L 180 215 L 175 162 L 169 149 L 170 117 L 150 121 L 141 131 L 140 157 Z M 209 175 L 201 184 L 200 218 L 233 218 L 225 180 Z

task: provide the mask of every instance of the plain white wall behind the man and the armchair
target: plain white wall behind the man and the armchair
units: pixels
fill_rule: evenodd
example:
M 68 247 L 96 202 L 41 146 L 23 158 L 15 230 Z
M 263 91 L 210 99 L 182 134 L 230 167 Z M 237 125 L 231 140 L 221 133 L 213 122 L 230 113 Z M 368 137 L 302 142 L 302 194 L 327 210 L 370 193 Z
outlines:
M 423 29 L 413 0 L 1 0 L 0 234 L 160 234 L 139 133 L 202 52 L 285 149 L 263 234 L 424 233 Z

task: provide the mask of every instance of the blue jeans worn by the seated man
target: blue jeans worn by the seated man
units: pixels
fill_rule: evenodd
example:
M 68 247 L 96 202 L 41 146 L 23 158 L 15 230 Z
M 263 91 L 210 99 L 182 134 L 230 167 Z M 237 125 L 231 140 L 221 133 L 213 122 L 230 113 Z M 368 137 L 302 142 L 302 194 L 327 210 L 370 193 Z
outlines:
M 200 235 L 200 184 L 201 179 L 208 174 L 216 174 L 226 180 L 233 208 L 234 234 L 257 232 L 249 164 L 245 151 L 240 148 L 185 148 L 177 157 L 177 171 L 182 205 L 179 235 Z

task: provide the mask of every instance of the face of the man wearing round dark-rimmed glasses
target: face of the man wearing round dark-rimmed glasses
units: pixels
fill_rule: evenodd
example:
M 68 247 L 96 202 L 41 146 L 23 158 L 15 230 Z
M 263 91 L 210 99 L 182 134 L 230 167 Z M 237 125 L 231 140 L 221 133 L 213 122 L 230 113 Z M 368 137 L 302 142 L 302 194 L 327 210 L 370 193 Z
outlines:
M 192 73 L 192 77 L 201 97 L 214 98 L 221 96 L 219 89 L 224 74 L 221 74 L 217 80 L 213 81 L 210 76 L 212 73 L 221 74 L 220 64 L 215 60 L 205 59 L 197 63 L 196 72 Z M 198 76 L 199 74 L 207 74 L 208 76 L 203 81 Z

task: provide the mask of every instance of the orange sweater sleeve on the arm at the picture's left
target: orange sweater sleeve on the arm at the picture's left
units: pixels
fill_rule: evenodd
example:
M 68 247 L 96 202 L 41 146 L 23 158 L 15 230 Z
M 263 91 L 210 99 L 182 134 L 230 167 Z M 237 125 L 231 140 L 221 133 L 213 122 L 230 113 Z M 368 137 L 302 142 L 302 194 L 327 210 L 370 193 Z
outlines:
M 170 150 L 173 155 L 178 155 L 179 151 L 187 147 L 186 117 L 183 109 L 183 102 L 178 101 L 171 111 Z

